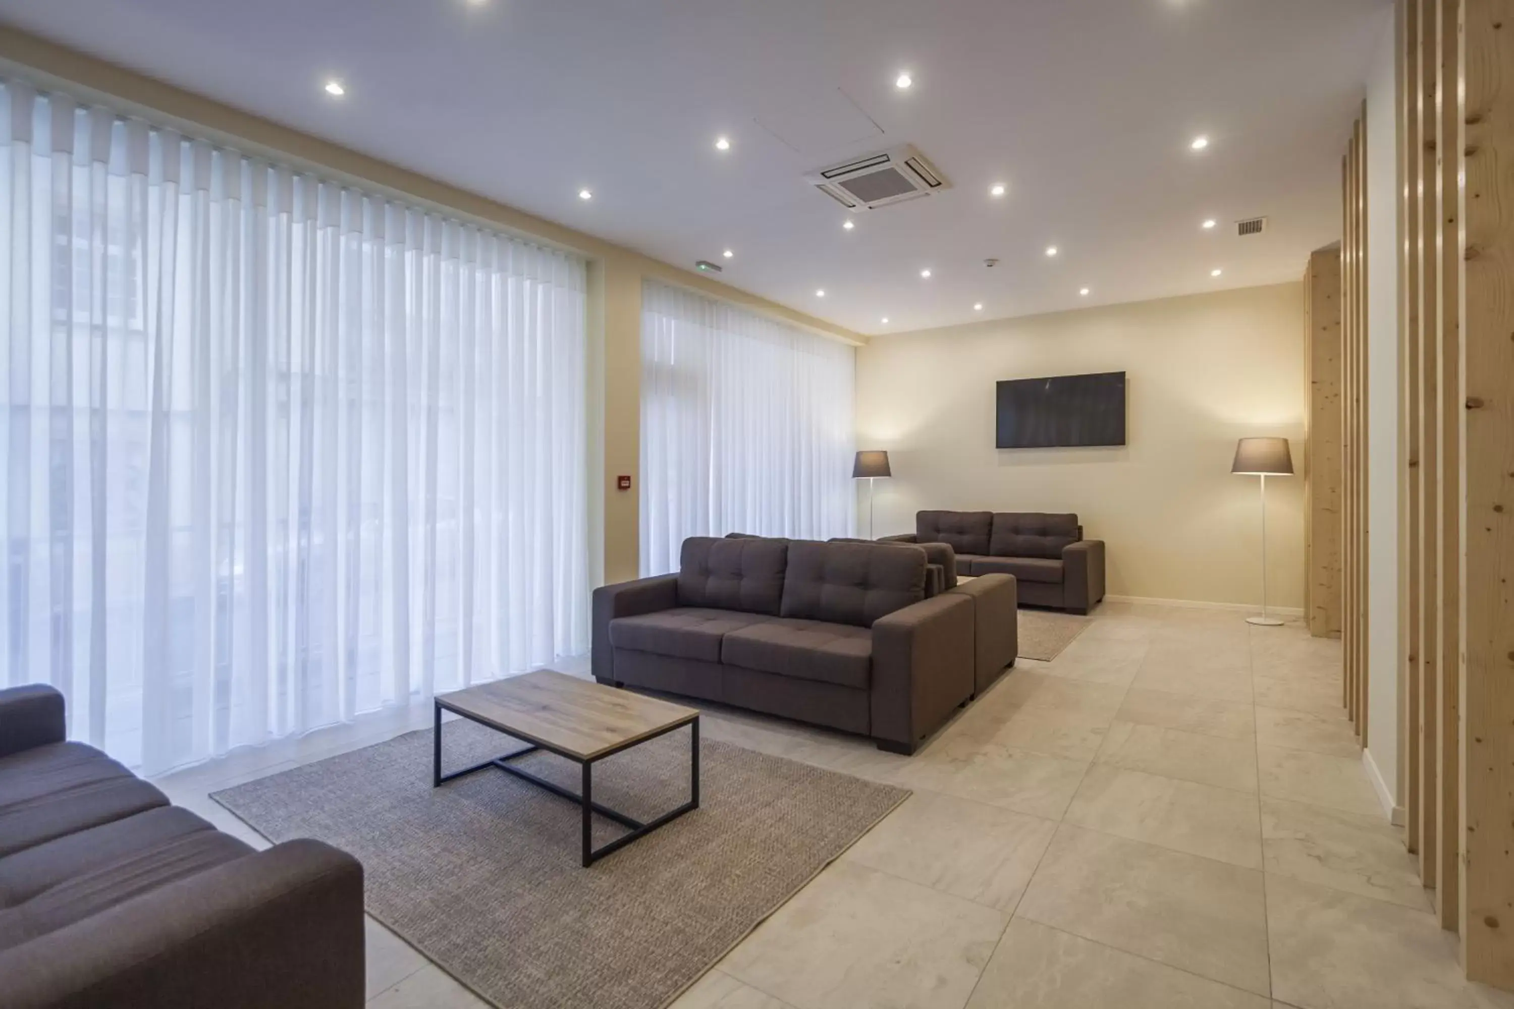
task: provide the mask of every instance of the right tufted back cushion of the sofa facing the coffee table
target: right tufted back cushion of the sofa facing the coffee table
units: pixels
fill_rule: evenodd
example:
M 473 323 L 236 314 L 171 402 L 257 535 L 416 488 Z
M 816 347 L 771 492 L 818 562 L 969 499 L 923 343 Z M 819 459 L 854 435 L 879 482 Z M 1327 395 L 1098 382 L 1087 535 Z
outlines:
M 881 543 L 789 543 L 780 616 L 871 628 L 925 598 L 925 551 Z

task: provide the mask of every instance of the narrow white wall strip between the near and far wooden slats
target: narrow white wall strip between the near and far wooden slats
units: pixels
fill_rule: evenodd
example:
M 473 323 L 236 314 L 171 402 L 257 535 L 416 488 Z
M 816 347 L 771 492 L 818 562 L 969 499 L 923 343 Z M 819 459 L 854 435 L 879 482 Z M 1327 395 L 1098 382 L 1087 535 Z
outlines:
M 1393 14 L 1367 71 L 1367 773 L 1399 791 L 1399 221 Z

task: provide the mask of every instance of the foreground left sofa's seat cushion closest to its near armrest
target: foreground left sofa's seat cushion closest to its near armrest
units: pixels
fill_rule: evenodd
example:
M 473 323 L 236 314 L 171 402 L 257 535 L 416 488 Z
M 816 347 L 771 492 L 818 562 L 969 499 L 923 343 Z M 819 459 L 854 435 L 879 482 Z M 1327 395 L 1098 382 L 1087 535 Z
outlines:
M 250 846 L 220 830 L 192 830 L 124 853 L 0 911 L 0 950 L 251 853 Z

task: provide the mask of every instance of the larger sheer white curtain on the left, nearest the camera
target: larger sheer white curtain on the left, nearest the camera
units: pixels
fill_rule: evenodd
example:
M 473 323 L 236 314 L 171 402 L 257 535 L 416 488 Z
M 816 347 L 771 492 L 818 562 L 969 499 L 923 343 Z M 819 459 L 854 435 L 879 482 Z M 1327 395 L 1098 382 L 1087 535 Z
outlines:
M 0 685 L 145 771 L 587 649 L 584 265 L 0 82 Z

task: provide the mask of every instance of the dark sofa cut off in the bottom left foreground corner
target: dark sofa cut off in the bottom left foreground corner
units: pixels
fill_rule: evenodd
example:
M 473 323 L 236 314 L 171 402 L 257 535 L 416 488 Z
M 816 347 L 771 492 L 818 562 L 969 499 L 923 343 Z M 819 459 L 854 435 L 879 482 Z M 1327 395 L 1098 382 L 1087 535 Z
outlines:
M 0 690 L 0 1009 L 360 1009 L 363 870 L 256 852 Z

